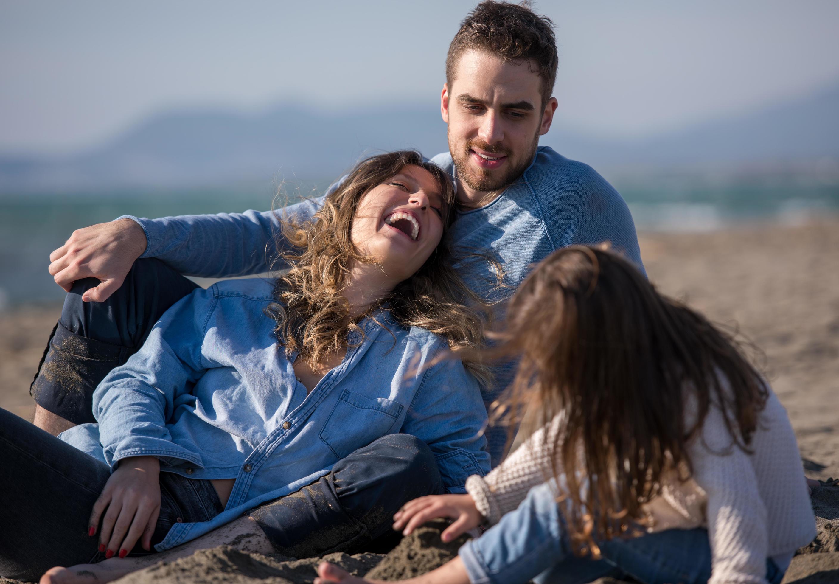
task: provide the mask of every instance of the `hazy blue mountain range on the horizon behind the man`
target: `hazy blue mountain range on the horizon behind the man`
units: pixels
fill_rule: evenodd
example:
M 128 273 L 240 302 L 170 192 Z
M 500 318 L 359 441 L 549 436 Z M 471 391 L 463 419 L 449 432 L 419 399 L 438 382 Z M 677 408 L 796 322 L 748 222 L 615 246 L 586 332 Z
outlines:
M 557 123 L 542 143 L 598 168 L 839 158 L 839 84 L 658 138 L 607 142 Z M 258 115 L 177 110 L 73 156 L 0 157 L 0 194 L 321 179 L 366 152 L 401 148 L 428 155 L 446 149 L 446 125 L 435 104 L 341 113 L 284 105 Z

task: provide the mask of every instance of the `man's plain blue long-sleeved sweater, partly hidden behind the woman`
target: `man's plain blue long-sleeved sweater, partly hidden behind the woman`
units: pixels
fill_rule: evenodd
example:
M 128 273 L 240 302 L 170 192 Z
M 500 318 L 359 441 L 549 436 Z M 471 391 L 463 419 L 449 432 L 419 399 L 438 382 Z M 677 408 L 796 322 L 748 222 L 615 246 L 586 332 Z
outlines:
M 438 154 L 432 162 L 456 174 L 451 154 Z M 304 201 L 286 212 L 305 218 L 319 206 L 320 201 Z M 268 271 L 277 247 L 282 251 L 285 246 L 283 241 L 274 244 L 279 224 L 273 211 L 128 218 L 146 233 L 143 258 L 160 258 L 187 275 L 262 273 Z M 573 243 L 611 242 L 644 270 L 635 225 L 618 191 L 587 164 L 566 159 L 547 146 L 537 149 L 533 163 L 495 201 L 457 212 L 450 233 L 456 247 L 489 253 L 503 265 L 505 289 L 487 288 L 492 274 L 487 274 L 486 263 L 475 263 L 464 274 L 473 288 L 496 298 L 510 294 L 536 263 Z M 498 399 L 512 374 L 512 368 L 505 368 L 492 387 L 482 388 L 486 404 Z M 490 428 L 487 437 L 495 466 L 501 460 L 507 429 Z

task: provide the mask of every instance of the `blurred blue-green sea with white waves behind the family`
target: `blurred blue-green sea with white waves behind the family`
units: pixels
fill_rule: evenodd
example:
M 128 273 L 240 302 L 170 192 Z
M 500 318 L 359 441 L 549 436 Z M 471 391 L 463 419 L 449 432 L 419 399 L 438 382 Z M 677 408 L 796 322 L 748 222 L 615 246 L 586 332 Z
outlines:
M 800 223 L 839 214 L 839 184 L 810 180 L 722 181 L 656 178 L 612 180 L 628 202 L 639 232 L 712 231 L 749 222 Z M 328 181 L 300 185 L 284 194 L 316 196 Z M 278 197 L 278 201 L 280 197 Z M 265 210 L 270 189 L 121 191 L 99 194 L 0 196 L 0 310 L 24 303 L 58 302 L 63 291 L 47 266 L 52 250 L 74 229 L 120 215 Z

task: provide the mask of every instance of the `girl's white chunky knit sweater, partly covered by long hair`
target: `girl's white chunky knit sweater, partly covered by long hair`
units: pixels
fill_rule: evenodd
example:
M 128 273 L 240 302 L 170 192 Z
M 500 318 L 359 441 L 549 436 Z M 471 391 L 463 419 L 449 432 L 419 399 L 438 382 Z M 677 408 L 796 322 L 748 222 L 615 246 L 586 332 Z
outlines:
M 547 427 L 548 444 L 561 417 Z M 768 557 L 788 561 L 816 535 L 795 435 L 771 390 L 750 449 L 753 454 L 732 446 L 722 411 L 711 406 L 701 435 L 689 446 L 693 476 L 687 482 L 664 479 L 661 496 L 644 506 L 650 532 L 708 529 L 713 584 L 764 584 Z M 486 477 L 469 477 L 466 490 L 495 524 L 550 473 L 542 428 Z

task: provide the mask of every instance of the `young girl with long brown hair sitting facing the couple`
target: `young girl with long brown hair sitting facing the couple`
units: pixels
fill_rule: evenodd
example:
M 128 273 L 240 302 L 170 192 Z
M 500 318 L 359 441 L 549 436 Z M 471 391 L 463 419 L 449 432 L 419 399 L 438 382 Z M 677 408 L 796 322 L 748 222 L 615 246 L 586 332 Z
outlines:
M 617 254 L 576 246 L 524 281 L 506 338 L 511 406 L 539 430 L 468 494 L 396 514 L 406 534 L 455 519 L 444 540 L 493 525 L 411 582 L 781 581 L 815 521 L 786 412 L 730 337 Z

